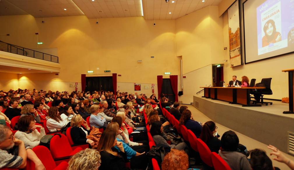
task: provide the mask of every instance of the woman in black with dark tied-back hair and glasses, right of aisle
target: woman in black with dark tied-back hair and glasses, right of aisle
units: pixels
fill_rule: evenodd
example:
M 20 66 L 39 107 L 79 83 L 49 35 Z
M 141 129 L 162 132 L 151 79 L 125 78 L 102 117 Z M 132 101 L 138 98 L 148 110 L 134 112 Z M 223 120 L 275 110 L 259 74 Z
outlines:
M 217 126 L 213 121 L 208 121 L 204 123 L 200 139 L 206 143 L 211 152 L 216 152 L 220 150 L 221 143 L 217 135 Z

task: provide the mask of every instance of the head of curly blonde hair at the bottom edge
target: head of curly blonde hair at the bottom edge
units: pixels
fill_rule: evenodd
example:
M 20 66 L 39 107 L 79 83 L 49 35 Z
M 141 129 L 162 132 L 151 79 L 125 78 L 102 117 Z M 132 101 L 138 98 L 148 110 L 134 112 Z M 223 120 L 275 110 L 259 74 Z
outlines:
M 97 170 L 100 164 L 100 153 L 96 149 L 86 148 L 71 157 L 67 170 Z

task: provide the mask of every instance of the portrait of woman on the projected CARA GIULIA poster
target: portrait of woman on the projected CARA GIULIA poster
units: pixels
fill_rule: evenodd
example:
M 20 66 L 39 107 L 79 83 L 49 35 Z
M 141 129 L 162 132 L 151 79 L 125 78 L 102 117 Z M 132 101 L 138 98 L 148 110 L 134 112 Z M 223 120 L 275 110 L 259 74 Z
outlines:
M 275 21 L 268 20 L 263 27 L 265 36 L 262 37 L 262 47 L 281 41 L 280 32 L 276 31 Z

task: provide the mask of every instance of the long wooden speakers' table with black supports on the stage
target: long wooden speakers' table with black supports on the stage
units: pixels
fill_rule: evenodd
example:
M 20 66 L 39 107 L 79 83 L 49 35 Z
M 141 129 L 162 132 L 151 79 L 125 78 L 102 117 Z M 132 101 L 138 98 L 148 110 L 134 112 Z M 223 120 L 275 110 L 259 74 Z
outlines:
M 250 90 L 265 89 L 265 87 L 200 87 L 204 88 L 204 97 L 215 100 L 223 100 L 231 104 L 242 106 L 261 106 L 250 104 Z

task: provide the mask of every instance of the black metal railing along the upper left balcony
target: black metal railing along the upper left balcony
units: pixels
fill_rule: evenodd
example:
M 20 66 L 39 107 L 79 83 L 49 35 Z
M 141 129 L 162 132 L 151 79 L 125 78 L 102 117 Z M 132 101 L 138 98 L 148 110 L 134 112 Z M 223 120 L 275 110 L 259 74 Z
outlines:
M 22 56 L 28 56 L 35 59 L 45 60 L 45 61 L 51 61 L 54 63 L 59 62 L 58 56 L 42 53 L 40 51 L 35 51 L 35 50 L 24 48 L 24 47 L 19 47 L 17 45 L 9 44 L 3 41 L 0 41 L 0 51 L 10 52 L 13 54 L 19 54 Z

